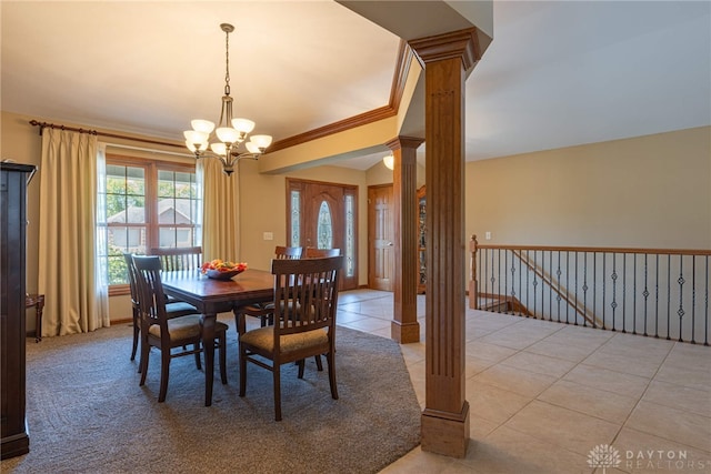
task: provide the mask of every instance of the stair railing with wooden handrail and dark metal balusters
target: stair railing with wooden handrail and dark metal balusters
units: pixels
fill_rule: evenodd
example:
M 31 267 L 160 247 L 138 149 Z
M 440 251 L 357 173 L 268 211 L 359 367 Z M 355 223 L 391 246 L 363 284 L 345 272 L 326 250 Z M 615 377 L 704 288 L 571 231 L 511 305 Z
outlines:
M 709 345 L 711 251 L 470 242 L 469 307 Z

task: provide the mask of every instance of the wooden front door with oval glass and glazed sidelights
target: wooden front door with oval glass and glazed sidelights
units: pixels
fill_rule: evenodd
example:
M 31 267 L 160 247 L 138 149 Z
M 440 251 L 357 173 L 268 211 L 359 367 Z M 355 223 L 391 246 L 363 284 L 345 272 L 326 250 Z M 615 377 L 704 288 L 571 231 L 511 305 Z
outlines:
M 340 249 L 341 290 L 358 289 L 358 186 L 287 179 L 289 244 Z

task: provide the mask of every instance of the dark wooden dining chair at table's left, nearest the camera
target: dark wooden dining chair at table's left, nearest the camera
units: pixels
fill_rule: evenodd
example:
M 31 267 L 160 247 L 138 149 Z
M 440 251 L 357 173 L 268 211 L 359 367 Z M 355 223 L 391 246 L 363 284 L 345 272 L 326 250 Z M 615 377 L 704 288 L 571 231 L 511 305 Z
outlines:
M 193 354 L 198 370 L 201 369 L 200 353 L 202 352 L 202 316 L 188 314 L 168 319 L 166 313 L 166 293 L 161 283 L 161 262 L 156 255 L 133 255 L 133 264 L 137 270 L 138 301 L 141 320 L 141 381 L 146 384 L 148 363 L 151 347 L 160 350 L 160 392 L 158 402 L 164 402 L 168 393 L 168 377 L 170 374 L 170 361 L 174 357 Z M 214 344 L 220 351 L 220 377 L 227 383 L 227 324 L 216 321 Z M 187 349 L 192 344 L 192 350 Z M 179 351 L 174 352 L 173 350 Z M 207 377 L 212 374 L 206 374 Z M 206 405 L 211 401 L 206 400 Z

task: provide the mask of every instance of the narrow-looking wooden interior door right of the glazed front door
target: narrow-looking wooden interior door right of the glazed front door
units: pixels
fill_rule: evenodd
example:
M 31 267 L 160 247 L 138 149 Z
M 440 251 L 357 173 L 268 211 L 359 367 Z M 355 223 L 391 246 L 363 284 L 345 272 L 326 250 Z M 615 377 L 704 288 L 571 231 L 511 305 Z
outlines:
M 368 286 L 393 291 L 392 184 L 368 188 Z

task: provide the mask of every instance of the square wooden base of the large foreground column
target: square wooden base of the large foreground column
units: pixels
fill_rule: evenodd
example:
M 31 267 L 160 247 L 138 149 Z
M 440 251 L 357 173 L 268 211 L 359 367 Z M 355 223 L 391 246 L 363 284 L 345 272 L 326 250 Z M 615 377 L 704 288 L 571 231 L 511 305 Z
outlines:
M 421 417 L 421 448 L 450 457 L 467 456 L 469 445 L 469 402 L 461 413 L 424 409 Z

